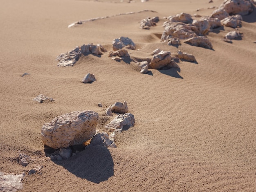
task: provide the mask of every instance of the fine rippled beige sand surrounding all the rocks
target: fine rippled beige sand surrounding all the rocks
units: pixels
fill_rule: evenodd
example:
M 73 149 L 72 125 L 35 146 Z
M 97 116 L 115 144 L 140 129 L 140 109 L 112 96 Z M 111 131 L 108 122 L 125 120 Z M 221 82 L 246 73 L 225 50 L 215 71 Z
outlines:
M 213 0 L 12 0 L 0 6 L 0 171 L 25 172 L 21 192 L 48 191 L 256 191 L 256 11 L 244 16 L 242 40 L 221 40 L 233 29 L 209 33 L 213 50 L 160 42 L 168 17 L 177 13 L 209 16 L 223 1 Z M 72 22 L 142 12 L 86 22 Z M 196 11 L 200 9 L 199 11 Z M 159 16 L 150 30 L 139 21 Z M 56 57 L 83 44 L 101 43 L 108 51 L 121 36 L 131 38 L 137 58 L 154 49 L 193 54 L 180 70 L 149 69 L 92 54 L 74 67 L 57 67 Z M 25 72 L 30 75 L 21 77 Z M 83 84 L 88 72 L 96 81 Z M 32 101 L 39 94 L 51 103 Z M 91 147 L 53 162 L 45 157 L 41 127 L 77 110 L 101 115 L 98 129 L 113 117 L 106 108 L 126 101 L 135 126 L 117 134 L 117 148 Z M 103 107 L 97 107 L 98 103 Z M 23 167 L 16 158 L 33 161 Z M 28 175 L 36 165 L 40 173 Z M 1 181 L 0 181 L 1 182 Z M 1 189 L 0 189 L 1 190 Z

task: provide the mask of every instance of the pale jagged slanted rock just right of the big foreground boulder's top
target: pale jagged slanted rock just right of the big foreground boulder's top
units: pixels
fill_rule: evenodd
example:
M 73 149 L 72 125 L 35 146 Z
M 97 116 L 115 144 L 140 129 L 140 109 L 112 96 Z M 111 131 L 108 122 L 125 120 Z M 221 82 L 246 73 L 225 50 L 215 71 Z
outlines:
M 121 132 L 124 126 L 134 126 L 135 118 L 131 113 L 119 114 L 116 116 L 110 123 L 105 127 L 109 131 L 118 131 Z

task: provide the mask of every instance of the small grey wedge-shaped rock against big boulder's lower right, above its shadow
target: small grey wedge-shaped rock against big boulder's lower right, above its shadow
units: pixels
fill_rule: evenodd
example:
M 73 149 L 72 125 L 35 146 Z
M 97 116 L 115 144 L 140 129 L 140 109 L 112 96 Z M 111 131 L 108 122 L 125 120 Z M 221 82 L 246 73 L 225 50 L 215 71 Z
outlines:
M 97 133 L 92 137 L 90 146 L 95 146 L 95 145 L 103 145 L 105 147 L 113 147 L 117 148 L 117 145 L 110 140 L 109 136 L 107 133 Z

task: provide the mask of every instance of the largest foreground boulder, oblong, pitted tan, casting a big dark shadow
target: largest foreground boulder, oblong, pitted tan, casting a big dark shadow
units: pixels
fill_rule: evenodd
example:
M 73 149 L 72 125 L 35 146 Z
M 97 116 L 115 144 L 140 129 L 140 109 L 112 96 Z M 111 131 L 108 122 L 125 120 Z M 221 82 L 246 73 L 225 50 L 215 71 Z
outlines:
M 45 123 L 41 130 L 44 145 L 54 149 L 80 145 L 96 133 L 99 115 L 93 111 L 75 111 Z

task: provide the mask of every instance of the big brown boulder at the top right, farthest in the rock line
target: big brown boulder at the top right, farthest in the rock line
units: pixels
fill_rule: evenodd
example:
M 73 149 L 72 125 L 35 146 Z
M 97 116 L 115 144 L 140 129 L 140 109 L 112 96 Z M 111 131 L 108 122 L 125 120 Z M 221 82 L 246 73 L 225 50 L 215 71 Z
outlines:
M 227 13 L 231 15 L 248 15 L 253 11 L 252 4 L 249 0 L 225 0 L 220 7 L 225 9 Z

